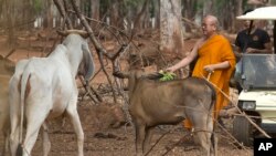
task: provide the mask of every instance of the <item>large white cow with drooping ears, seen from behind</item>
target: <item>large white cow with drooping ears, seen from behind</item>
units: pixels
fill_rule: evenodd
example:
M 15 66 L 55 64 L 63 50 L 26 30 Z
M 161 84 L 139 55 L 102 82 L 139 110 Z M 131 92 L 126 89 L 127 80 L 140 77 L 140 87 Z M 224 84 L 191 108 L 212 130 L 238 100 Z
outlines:
M 79 66 L 84 71 L 79 72 Z M 83 156 L 84 133 L 76 108 L 77 72 L 88 81 L 94 63 L 86 40 L 76 33 L 70 33 L 47 58 L 33 58 L 23 65 L 17 64 L 9 89 L 12 156 L 29 156 L 44 121 L 64 113 L 75 129 L 78 156 Z M 23 123 L 26 123 L 24 139 Z M 46 128 L 45 124 L 43 127 Z

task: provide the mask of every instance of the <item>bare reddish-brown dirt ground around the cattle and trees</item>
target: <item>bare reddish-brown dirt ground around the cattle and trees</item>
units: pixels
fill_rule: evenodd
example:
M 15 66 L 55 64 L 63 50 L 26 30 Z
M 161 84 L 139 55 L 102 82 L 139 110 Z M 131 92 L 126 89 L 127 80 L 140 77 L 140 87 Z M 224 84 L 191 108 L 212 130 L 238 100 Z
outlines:
M 0 54 L 7 55 L 11 48 L 7 46 L 7 37 L 0 35 Z M 43 51 L 47 51 L 52 48 L 53 41 L 46 42 L 39 40 L 38 38 L 18 38 L 19 45 L 15 52 L 9 56 L 12 61 L 17 62 L 24 58 L 42 56 Z M 194 40 L 185 41 L 187 49 L 191 49 Z M 112 43 L 105 43 L 106 49 L 113 49 Z M 95 52 L 94 56 L 96 59 Z M 96 63 L 98 67 L 99 64 Z M 110 72 L 110 67 L 107 67 Z M 96 75 L 93 80 L 93 85 L 99 93 L 104 93 L 103 87 L 107 84 L 103 73 Z M 234 93 L 232 94 L 234 97 Z M 85 141 L 84 141 L 84 154 L 86 156 L 132 156 L 135 155 L 135 137 L 134 128 L 130 124 L 123 124 L 117 128 L 112 128 L 114 118 L 113 106 L 123 106 L 124 104 L 112 103 L 110 94 L 105 93 L 104 104 L 95 105 L 88 97 L 83 101 L 79 98 L 78 113 L 81 116 Z M 252 156 L 252 148 L 240 149 L 234 146 L 234 141 L 231 138 L 232 118 L 224 118 L 225 129 L 217 128 L 219 136 L 219 154 L 217 156 Z M 75 156 L 76 152 L 76 136 L 70 124 L 68 119 L 65 119 L 64 126 L 62 126 L 61 119 L 49 122 L 50 124 L 50 139 L 52 148 L 50 156 Z M 156 146 L 149 153 L 150 156 L 195 156 L 199 154 L 198 146 L 187 145 L 181 143 L 176 145 L 180 138 L 185 137 L 188 132 L 182 128 L 181 124 L 174 126 L 159 126 L 156 128 L 156 133 L 152 139 L 152 144 Z M 162 137 L 160 141 L 158 141 Z M 3 146 L 2 136 L 0 136 L 0 147 Z M 173 148 L 172 148 L 173 147 Z M 172 149 L 170 149 L 172 148 Z M 169 152 L 168 152 L 169 150 Z M 167 153 L 168 152 L 168 153 Z M 166 154 L 167 153 L 167 154 Z M 41 136 L 38 138 L 32 156 L 42 155 Z

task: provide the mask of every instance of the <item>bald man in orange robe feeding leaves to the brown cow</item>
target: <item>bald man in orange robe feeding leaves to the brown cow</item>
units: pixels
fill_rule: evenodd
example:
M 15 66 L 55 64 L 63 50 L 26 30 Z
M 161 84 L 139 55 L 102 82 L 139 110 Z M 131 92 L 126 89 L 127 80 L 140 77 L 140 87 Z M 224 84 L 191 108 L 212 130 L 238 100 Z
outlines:
M 167 69 L 169 72 L 174 72 L 180 67 L 187 66 L 198 58 L 192 76 L 209 79 L 215 85 L 216 104 L 213 114 L 215 119 L 217 119 L 223 106 L 227 105 L 227 101 L 222 92 L 229 95 L 229 81 L 236 63 L 230 42 L 219 34 L 217 27 L 217 18 L 206 15 L 202 21 L 203 37 L 194 44 L 188 56 Z M 189 118 L 184 121 L 184 127 L 188 129 L 192 128 Z

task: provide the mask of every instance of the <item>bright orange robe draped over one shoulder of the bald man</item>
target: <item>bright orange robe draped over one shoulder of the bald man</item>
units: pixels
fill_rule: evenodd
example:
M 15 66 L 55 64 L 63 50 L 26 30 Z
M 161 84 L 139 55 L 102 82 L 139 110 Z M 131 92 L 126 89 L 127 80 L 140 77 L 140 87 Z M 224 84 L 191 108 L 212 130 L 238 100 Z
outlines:
M 199 50 L 198 50 L 199 60 L 194 66 L 192 76 L 197 77 L 208 77 L 208 72 L 203 70 L 203 66 L 209 64 L 217 64 L 224 61 L 230 62 L 230 67 L 223 70 L 215 70 L 210 80 L 216 90 L 216 103 L 214 106 L 214 117 L 219 117 L 220 111 L 223 106 L 227 105 L 227 100 L 224 98 L 224 95 L 221 93 L 224 92 L 229 95 L 229 81 L 231 79 L 232 72 L 235 67 L 235 56 L 230 45 L 230 42 L 220 34 L 216 34 L 209 39 Z M 219 87 L 221 91 L 219 91 Z M 189 119 L 184 121 L 184 127 L 191 128 L 191 122 Z

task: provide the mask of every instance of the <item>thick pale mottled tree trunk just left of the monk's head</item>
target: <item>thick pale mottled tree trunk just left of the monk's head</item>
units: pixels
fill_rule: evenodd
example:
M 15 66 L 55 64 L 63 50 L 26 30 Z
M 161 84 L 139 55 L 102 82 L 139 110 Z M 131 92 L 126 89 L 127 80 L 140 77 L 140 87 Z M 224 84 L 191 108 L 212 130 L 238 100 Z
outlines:
M 160 50 L 172 58 L 183 52 L 181 0 L 160 0 Z

